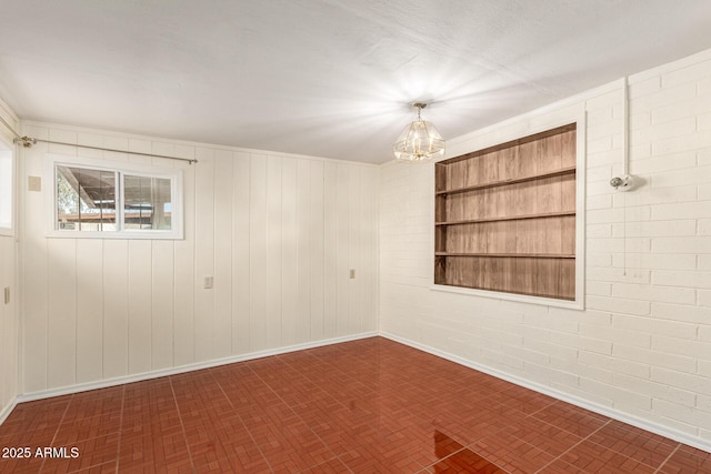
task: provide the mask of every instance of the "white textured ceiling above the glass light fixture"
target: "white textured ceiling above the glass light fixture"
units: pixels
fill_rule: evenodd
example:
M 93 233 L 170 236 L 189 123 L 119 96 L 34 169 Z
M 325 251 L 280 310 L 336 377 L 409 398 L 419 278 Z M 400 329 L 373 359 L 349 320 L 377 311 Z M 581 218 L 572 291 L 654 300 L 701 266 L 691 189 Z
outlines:
M 23 119 L 381 163 L 711 48 L 708 0 L 0 2 Z

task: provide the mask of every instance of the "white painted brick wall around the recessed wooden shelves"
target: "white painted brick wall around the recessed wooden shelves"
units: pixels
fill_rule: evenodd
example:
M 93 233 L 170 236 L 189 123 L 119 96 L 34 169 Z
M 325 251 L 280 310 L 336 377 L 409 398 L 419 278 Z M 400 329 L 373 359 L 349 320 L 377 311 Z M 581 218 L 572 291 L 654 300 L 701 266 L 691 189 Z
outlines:
M 584 311 L 431 290 L 432 167 L 389 163 L 381 330 L 709 448 L 711 51 L 629 84 L 629 193 L 608 184 L 624 168 L 621 82 L 452 140 L 459 154 L 585 111 Z

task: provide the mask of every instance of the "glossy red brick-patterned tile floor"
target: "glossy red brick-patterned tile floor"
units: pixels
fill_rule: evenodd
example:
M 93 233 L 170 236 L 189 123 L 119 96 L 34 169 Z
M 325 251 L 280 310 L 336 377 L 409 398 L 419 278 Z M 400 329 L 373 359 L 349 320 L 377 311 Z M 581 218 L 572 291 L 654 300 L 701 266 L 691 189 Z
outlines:
M 709 453 L 382 337 L 21 403 L 0 446 L 2 473 L 711 473 Z

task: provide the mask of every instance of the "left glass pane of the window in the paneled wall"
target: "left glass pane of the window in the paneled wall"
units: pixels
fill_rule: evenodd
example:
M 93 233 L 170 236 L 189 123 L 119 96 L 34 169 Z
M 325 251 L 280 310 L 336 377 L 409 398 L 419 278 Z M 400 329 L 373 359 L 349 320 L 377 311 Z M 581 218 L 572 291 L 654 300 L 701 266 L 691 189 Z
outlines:
M 116 173 L 57 165 L 57 229 L 116 231 Z

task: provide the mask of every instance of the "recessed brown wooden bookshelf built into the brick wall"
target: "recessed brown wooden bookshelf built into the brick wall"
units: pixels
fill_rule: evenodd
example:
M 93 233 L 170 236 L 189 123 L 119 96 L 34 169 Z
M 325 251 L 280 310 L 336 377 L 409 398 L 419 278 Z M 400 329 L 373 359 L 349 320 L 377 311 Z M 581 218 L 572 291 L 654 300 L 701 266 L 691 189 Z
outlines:
M 575 123 L 435 163 L 434 283 L 575 302 Z

